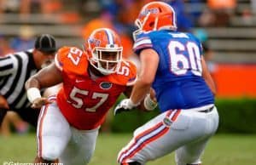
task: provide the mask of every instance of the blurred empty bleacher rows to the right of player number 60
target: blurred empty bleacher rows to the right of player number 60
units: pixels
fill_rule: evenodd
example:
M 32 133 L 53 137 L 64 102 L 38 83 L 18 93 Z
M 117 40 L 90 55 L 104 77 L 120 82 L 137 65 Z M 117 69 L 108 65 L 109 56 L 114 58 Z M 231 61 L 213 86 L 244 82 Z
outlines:
M 214 60 L 229 63 L 256 62 L 256 17 L 249 0 L 238 0 L 228 26 L 207 27 Z M 245 15 L 244 12 L 249 11 Z

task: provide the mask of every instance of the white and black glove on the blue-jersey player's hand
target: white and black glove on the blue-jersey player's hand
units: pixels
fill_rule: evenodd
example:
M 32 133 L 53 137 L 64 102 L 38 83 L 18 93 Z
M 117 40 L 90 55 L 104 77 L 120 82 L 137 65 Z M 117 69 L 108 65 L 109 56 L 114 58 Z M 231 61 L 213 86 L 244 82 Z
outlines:
M 137 105 L 139 104 L 140 103 L 138 103 Z M 119 102 L 119 104 L 114 108 L 113 115 L 115 116 L 122 111 L 131 111 L 131 109 L 133 109 L 137 105 L 135 105 L 130 99 L 121 100 L 121 102 Z

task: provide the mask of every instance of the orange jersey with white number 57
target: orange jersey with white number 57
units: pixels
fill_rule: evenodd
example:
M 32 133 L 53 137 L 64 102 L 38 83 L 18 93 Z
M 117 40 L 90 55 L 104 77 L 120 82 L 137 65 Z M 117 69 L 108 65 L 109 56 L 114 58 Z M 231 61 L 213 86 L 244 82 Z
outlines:
M 67 121 L 75 128 L 99 127 L 119 95 L 135 83 L 137 69 L 123 61 L 117 73 L 90 78 L 87 54 L 79 48 L 63 47 L 55 56 L 55 65 L 63 77 L 57 104 Z

